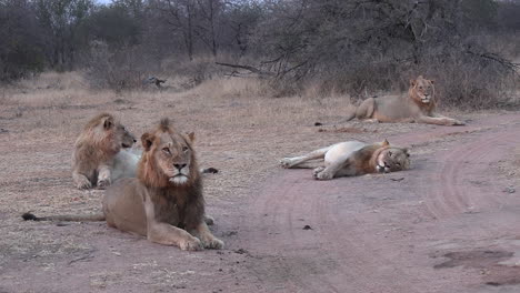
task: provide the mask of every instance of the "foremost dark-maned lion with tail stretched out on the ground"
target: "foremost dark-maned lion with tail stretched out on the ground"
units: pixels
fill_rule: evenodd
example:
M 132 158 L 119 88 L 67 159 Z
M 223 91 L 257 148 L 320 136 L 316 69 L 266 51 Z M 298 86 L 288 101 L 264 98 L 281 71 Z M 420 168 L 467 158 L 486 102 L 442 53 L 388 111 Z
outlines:
M 109 226 L 140 234 L 154 243 L 181 250 L 222 249 L 204 221 L 202 181 L 193 149 L 194 134 L 177 131 L 168 119 L 141 137 L 144 148 L 138 176 L 123 178 L 107 189 L 102 213 L 53 215 L 34 221 L 107 221 Z

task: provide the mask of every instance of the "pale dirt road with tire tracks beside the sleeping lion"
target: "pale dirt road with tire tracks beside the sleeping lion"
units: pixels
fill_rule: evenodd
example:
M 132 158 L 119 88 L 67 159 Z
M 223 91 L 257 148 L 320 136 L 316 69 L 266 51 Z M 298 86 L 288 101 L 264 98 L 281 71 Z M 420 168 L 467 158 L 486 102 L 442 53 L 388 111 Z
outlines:
M 276 171 L 239 230 L 259 277 L 251 290 L 520 292 L 520 269 L 507 265 L 520 256 L 520 199 L 493 168 L 520 145 L 519 125 L 520 115 L 492 117 L 390 138 L 439 140 L 401 173 L 317 182 Z

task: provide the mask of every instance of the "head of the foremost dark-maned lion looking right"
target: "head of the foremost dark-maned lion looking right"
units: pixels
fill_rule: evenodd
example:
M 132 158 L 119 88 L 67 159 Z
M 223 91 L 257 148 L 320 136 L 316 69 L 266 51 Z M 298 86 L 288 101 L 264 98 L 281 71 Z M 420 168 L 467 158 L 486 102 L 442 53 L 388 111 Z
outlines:
M 200 176 L 193 141 L 193 133 L 184 135 L 168 119 L 162 119 L 154 131 L 141 137 L 144 148 L 138 171 L 141 181 L 154 188 L 192 184 Z

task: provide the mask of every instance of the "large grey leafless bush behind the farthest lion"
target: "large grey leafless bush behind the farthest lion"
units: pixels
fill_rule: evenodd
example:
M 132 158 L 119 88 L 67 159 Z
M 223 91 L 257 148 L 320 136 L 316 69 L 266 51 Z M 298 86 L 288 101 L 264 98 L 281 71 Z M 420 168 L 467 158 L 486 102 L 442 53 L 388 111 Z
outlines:
M 299 4 L 297 4 L 299 3 Z M 354 99 L 406 90 L 419 74 L 437 79 L 444 104 L 500 103 L 514 79 L 503 50 L 487 43 L 497 28 L 492 0 L 270 2 L 256 36 L 280 92 L 308 84 Z M 478 21 L 476 22 L 476 19 Z

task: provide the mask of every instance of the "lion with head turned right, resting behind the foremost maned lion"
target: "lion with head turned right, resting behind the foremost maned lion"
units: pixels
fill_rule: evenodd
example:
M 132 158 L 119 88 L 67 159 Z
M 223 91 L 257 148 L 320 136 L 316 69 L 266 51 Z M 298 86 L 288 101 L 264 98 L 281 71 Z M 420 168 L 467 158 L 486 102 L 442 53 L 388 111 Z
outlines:
M 111 114 L 90 120 L 76 141 L 72 179 L 78 189 L 106 188 L 112 182 L 111 170 L 121 148 L 130 148 L 133 135 Z

